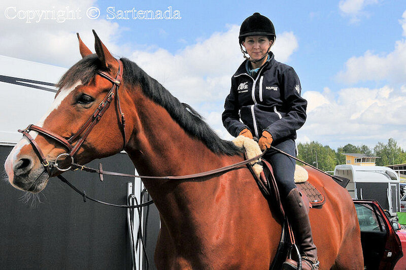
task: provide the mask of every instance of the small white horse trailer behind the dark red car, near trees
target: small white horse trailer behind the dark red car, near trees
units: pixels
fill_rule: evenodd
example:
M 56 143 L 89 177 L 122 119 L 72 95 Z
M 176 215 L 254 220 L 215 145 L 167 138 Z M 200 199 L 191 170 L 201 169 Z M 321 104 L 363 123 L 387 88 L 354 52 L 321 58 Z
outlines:
M 378 200 L 391 215 L 400 211 L 399 176 L 383 166 L 337 165 L 334 175 L 350 179 L 347 190 L 354 199 Z

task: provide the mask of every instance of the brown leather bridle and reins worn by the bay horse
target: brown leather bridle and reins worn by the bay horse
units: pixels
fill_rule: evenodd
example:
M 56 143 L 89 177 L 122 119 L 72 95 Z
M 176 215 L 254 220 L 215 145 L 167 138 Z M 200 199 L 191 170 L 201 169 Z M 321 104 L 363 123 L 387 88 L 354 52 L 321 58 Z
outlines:
M 107 109 L 110 107 L 110 104 L 112 103 L 112 100 L 114 99 L 114 96 L 116 96 L 116 105 L 117 105 L 117 110 L 118 110 L 117 113 L 120 114 L 120 116 L 121 116 L 121 132 L 122 132 L 122 136 L 123 136 L 123 149 L 125 148 L 125 144 L 126 144 L 125 118 L 124 118 L 124 114 L 123 114 L 123 112 L 121 110 L 120 99 L 119 99 L 119 95 L 118 95 L 118 88 L 121 85 L 122 77 L 123 77 L 123 63 L 118 59 L 116 59 L 116 60 L 117 60 L 118 65 L 119 65 L 116 78 L 111 77 L 107 72 L 97 71 L 98 75 L 100 75 L 101 77 L 109 80 L 113 84 L 112 88 L 107 93 L 107 95 L 102 100 L 102 102 L 97 106 L 96 110 L 89 117 L 89 119 L 69 139 L 65 139 L 65 138 L 59 136 L 58 134 L 56 134 L 56 133 L 54 133 L 52 131 L 49 131 L 49 130 L 47 130 L 45 128 L 42 128 L 40 126 L 33 125 L 33 124 L 28 125 L 28 127 L 26 127 L 25 129 L 19 129 L 18 130 L 18 132 L 22 133 L 23 136 L 25 136 L 29 140 L 33 150 L 36 152 L 37 156 L 41 160 L 41 163 L 45 167 L 45 169 L 48 172 L 49 176 L 51 176 L 52 168 L 56 168 L 58 171 L 61 171 L 61 172 L 65 172 L 65 171 L 69 171 L 69 170 L 73 170 L 73 171 L 81 170 L 81 171 L 86 171 L 86 172 L 90 172 L 90 173 L 97 173 L 97 174 L 99 174 L 99 177 L 100 177 L 101 181 L 103 181 L 103 175 L 114 175 L 114 176 L 131 177 L 131 178 L 135 177 L 135 178 L 154 179 L 154 180 L 191 180 L 191 179 L 196 179 L 196 178 L 202 178 L 202 177 L 209 177 L 209 176 L 215 176 L 215 175 L 224 174 L 226 172 L 234 170 L 235 168 L 242 167 L 242 166 L 244 166 L 244 165 L 246 165 L 248 163 L 251 163 L 251 162 L 259 159 L 265 153 L 266 150 L 263 153 L 261 153 L 260 155 L 257 155 L 256 157 L 253 157 L 251 159 L 247 159 L 247 160 L 244 160 L 244 161 L 241 161 L 241 162 L 238 162 L 238 163 L 234 163 L 234 164 L 231 164 L 231 165 L 228 165 L 228 166 L 217 168 L 215 170 L 211 170 L 211 171 L 208 171 L 208 172 L 202 172 L 202 173 L 197 173 L 197 174 L 192 174 L 192 175 L 184 175 L 184 176 L 140 176 L 140 175 L 131 175 L 131 174 L 123 174 L 123 173 L 103 171 L 103 167 L 102 167 L 101 163 L 99 164 L 99 169 L 98 170 L 75 163 L 73 156 L 76 154 L 76 152 L 82 146 L 82 144 L 84 143 L 84 141 L 88 137 L 88 135 L 89 135 L 90 131 L 93 129 L 93 127 L 98 123 L 98 121 L 101 119 L 101 117 L 107 111 Z M 56 141 L 59 144 L 63 145 L 69 151 L 69 153 L 62 153 L 62 154 L 58 155 L 56 157 L 55 161 L 53 161 L 53 162 L 48 161 L 47 158 L 45 157 L 44 153 L 42 152 L 40 146 L 37 144 L 35 139 L 33 139 L 31 137 L 31 135 L 29 134 L 29 131 L 37 131 L 38 133 L 41 133 L 42 135 L 44 135 L 44 136 L 46 136 L 46 137 L 48 137 L 50 139 L 53 139 L 54 141 Z M 75 141 L 76 141 L 76 143 L 75 143 Z M 62 159 L 62 158 L 64 158 L 65 160 L 66 159 L 71 159 L 69 167 L 62 168 L 62 167 L 60 167 L 58 165 L 58 160 Z M 51 164 L 51 163 L 53 163 L 53 164 Z M 86 201 L 86 198 L 87 198 L 87 199 L 90 199 L 90 200 L 95 201 L 95 202 L 100 203 L 100 204 L 109 205 L 109 206 L 115 206 L 115 207 L 120 207 L 120 208 L 140 208 L 140 207 L 144 207 L 144 206 L 147 206 L 147 205 L 150 205 L 150 204 L 153 203 L 152 200 L 147 201 L 147 203 L 140 204 L 140 205 L 135 205 L 135 206 L 114 205 L 114 204 L 110 204 L 110 203 L 105 203 L 104 201 L 93 199 L 93 198 L 87 196 L 85 191 L 83 191 L 83 192 L 80 191 L 78 188 L 76 188 L 74 185 L 72 185 L 69 181 L 67 181 L 61 175 L 58 175 L 57 177 L 62 182 L 69 185 L 73 190 L 75 190 L 80 195 L 82 195 L 84 201 Z

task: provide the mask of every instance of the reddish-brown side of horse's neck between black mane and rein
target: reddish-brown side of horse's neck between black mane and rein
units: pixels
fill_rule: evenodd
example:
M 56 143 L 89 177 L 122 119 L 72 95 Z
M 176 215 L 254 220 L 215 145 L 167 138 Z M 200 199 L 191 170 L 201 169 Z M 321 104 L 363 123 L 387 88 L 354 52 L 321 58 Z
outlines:
M 142 94 L 133 100 L 136 126 L 126 151 L 137 171 L 182 175 L 198 172 L 205 159 L 222 162 L 204 143 L 189 136 L 162 106 Z

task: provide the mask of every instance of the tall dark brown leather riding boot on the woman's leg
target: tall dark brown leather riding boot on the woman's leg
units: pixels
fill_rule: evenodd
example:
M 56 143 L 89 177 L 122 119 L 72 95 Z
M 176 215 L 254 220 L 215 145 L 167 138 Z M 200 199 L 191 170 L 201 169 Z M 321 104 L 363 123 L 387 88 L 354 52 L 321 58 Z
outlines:
M 313 243 L 312 229 L 306 207 L 297 188 L 292 189 L 286 196 L 284 210 L 300 251 L 302 269 L 313 270 L 319 268 L 319 260 L 317 259 L 316 246 Z M 283 266 L 284 269 L 297 269 L 297 262 L 287 259 Z

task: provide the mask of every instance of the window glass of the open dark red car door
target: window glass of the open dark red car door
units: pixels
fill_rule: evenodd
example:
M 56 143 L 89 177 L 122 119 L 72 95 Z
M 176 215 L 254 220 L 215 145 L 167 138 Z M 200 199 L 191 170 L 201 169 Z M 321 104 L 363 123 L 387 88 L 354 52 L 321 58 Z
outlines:
M 381 216 L 377 216 L 373 208 L 368 205 L 356 204 L 358 223 L 362 231 L 385 231 L 384 221 Z

